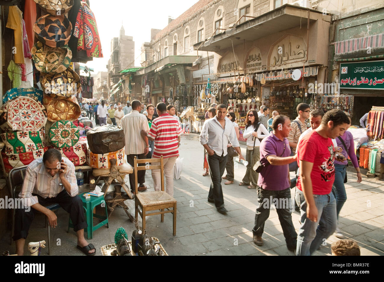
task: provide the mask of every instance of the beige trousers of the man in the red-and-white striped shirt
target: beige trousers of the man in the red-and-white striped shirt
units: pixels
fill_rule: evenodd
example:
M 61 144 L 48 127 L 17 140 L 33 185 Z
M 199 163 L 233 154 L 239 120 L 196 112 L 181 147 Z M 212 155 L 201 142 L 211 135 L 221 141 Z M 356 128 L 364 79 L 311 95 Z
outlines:
M 164 165 L 164 174 L 166 175 L 166 192 L 168 195 L 173 197 L 173 175 L 174 175 L 174 165 L 176 162 L 176 156 L 170 157 L 170 158 L 163 158 L 163 165 Z M 153 163 L 156 162 L 156 160 L 159 160 L 159 158 L 152 158 Z M 151 164 L 153 164 L 151 162 Z M 157 165 L 159 165 L 157 163 Z M 153 178 L 153 186 L 155 187 L 155 191 L 161 190 L 161 170 L 160 168 L 152 170 L 152 178 Z

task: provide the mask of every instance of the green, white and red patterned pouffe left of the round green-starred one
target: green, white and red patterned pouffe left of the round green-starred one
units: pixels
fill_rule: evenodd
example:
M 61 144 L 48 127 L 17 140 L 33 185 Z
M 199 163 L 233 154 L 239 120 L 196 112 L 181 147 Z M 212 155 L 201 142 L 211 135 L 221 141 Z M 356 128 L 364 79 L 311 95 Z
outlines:
M 5 153 L 25 153 L 44 147 L 44 131 L 13 131 L 2 133 L 1 139 L 5 144 Z

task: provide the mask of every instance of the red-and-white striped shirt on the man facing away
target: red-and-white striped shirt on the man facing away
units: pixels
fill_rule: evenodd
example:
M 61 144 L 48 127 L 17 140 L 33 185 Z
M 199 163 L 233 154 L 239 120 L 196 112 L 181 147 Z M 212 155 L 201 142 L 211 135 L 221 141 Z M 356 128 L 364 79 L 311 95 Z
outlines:
M 170 158 L 179 156 L 177 137 L 183 133 L 180 123 L 172 115 L 161 114 L 152 121 L 148 137 L 155 139 L 155 150 L 152 157 Z

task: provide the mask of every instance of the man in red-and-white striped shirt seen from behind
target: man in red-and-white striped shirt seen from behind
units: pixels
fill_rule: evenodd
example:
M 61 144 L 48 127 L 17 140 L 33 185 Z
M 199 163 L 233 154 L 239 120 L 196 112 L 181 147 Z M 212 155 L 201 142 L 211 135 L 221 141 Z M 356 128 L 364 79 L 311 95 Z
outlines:
M 182 129 L 179 122 L 167 113 L 165 103 L 156 106 L 159 117 L 152 121 L 151 130 L 141 133 L 148 136 L 149 140 L 155 141 L 155 150 L 152 158 L 163 156 L 164 173 L 166 175 L 166 192 L 173 197 L 173 167 L 176 158 L 179 157 L 180 135 Z M 156 191 L 161 190 L 160 169 L 152 170 L 152 178 Z

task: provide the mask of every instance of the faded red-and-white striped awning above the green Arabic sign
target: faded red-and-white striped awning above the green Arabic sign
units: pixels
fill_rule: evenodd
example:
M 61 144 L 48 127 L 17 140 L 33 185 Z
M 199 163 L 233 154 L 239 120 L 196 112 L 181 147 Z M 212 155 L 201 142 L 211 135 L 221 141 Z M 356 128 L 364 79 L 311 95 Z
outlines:
M 334 43 L 334 46 L 335 59 L 368 57 L 367 54 L 384 54 L 384 33 L 338 41 Z

